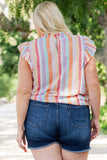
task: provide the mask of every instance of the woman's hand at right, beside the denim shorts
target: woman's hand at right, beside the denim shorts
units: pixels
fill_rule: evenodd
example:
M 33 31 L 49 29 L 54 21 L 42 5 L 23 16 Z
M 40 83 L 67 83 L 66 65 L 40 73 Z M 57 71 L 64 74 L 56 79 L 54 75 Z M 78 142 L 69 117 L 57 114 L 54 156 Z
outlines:
M 95 139 L 100 131 L 99 119 L 92 118 L 91 119 L 91 140 Z

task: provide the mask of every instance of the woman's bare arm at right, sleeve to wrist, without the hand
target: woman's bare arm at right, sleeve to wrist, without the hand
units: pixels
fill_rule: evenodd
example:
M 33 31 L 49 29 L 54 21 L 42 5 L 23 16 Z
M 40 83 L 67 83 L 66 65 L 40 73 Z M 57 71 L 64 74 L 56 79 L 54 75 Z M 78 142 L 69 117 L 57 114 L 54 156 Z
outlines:
M 101 93 L 95 57 L 91 58 L 89 63 L 85 66 L 85 78 L 91 103 L 92 115 L 95 119 L 99 119 Z

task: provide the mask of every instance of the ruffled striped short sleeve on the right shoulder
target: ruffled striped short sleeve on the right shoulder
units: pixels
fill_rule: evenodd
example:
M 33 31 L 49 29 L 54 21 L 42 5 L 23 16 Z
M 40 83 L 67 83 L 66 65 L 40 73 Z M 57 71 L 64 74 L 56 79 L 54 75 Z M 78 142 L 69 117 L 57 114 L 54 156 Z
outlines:
M 95 55 L 96 46 L 94 44 L 94 41 L 88 38 L 87 36 L 84 36 L 84 43 L 85 43 L 84 64 L 86 65 L 89 62 L 89 60 Z

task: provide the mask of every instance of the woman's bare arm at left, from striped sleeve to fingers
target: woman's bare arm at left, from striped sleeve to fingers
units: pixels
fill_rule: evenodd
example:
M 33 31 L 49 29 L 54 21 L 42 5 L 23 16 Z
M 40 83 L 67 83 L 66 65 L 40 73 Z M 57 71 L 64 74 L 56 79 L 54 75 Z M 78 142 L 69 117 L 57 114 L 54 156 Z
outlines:
M 20 136 L 23 134 L 23 126 L 26 118 L 28 104 L 32 90 L 32 72 L 29 64 L 20 55 L 18 63 L 18 87 L 16 92 L 16 112 L 17 112 L 17 141 L 21 141 Z M 22 136 L 22 135 L 21 135 Z M 25 143 L 25 139 L 23 142 Z M 19 143 L 19 142 L 18 142 Z M 19 143 L 19 146 L 24 149 L 24 146 Z

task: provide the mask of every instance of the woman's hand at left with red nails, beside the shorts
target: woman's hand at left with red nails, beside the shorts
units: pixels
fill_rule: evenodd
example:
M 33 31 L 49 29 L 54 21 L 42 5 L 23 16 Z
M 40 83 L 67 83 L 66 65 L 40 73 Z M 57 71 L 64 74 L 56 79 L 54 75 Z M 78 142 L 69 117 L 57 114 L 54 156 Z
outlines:
M 26 140 L 25 140 L 25 132 L 24 129 L 20 129 L 17 132 L 17 137 L 16 137 L 16 141 L 19 145 L 20 148 L 22 148 L 25 152 L 27 152 L 27 149 L 24 145 L 26 145 Z M 22 144 L 23 142 L 23 144 Z

